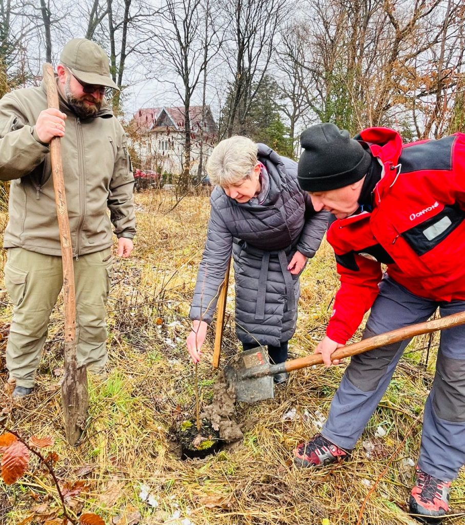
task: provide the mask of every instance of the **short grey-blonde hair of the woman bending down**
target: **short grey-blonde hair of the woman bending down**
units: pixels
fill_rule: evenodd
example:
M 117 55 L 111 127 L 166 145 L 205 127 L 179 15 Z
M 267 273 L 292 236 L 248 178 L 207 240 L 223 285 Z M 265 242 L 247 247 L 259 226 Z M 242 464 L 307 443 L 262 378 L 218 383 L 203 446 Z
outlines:
M 250 175 L 257 164 L 257 144 L 247 137 L 231 137 L 219 142 L 207 161 L 207 173 L 214 186 L 236 184 Z

